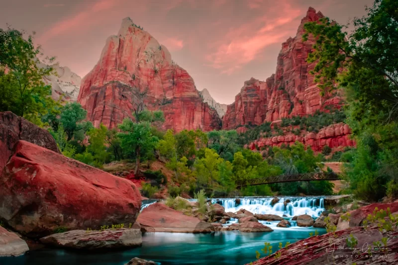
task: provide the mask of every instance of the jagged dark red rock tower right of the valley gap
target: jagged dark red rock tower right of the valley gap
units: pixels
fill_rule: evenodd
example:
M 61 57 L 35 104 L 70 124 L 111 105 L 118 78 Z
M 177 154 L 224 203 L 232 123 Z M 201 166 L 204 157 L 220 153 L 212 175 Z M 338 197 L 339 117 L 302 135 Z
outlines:
M 313 114 L 325 105 L 339 107 L 341 98 L 337 90 L 320 96 L 314 76 L 309 74 L 316 63 L 306 62 L 314 38 L 310 36 L 307 41 L 302 40 L 304 24 L 322 17 L 321 12 L 308 8 L 296 36 L 282 44 L 276 73 L 265 82 L 253 78 L 245 82 L 240 93 L 236 95 L 235 102 L 227 107 L 223 117 L 223 129 Z

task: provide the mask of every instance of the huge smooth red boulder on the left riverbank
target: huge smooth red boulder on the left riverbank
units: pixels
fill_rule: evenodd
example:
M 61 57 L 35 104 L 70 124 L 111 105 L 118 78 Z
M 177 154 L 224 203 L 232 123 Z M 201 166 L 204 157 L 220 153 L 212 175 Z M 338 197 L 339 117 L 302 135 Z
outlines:
M 29 237 L 54 229 L 134 223 L 141 196 L 129 180 L 19 141 L 0 177 L 0 217 Z

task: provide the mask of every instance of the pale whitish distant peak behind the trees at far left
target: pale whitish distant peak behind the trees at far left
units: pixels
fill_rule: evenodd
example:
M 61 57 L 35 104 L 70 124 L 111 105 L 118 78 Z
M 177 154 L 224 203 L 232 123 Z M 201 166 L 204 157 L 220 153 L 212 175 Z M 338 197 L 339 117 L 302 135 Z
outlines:
M 38 66 L 44 67 L 46 65 L 39 63 Z M 78 99 L 82 78 L 68 67 L 59 65 L 53 65 L 52 67 L 57 75 L 44 77 L 44 83 L 52 87 L 52 98 L 58 100 L 62 96 L 64 101 L 75 102 Z

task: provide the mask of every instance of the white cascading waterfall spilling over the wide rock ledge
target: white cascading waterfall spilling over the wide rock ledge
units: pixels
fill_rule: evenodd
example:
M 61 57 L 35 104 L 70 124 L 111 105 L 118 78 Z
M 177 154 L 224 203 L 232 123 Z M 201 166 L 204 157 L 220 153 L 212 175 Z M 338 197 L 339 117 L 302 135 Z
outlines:
M 325 210 L 321 197 L 278 197 L 279 202 L 272 205 L 274 198 L 216 198 L 212 199 L 211 202 L 221 204 L 226 212 L 237 212 L 239 209 L 245 209 L 254 214 L 275 214 L 286 215 L 287 217 L 300 214 L 318 217 Z M 286 206 L 284 201 L 289 201 Z

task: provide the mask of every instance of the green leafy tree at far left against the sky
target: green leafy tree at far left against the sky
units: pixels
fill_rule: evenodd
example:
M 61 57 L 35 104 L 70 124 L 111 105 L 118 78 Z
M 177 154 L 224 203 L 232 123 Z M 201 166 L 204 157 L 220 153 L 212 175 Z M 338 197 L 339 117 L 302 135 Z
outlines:
M 35 48 L 32 35 L 25 39 L 23 34 L 0 29 L 0 111 L 12 111 L 42 126 L 41 116 L 59 105 L 51 98 L 51 86 L 43 82 L 54 69 L 38 66 L 41 47 Z M 46 59 L 53 62 L 55 58 Z

